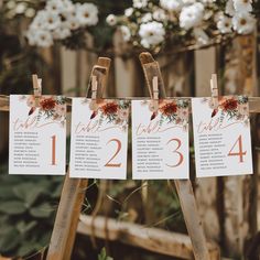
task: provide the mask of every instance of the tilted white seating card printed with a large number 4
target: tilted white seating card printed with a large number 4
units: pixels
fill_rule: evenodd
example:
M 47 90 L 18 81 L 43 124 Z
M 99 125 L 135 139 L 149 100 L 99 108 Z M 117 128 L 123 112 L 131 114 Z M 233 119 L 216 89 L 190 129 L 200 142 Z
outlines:
M 252 173 L 248 98 L 193 98 L 193 131 L 197 177 Z

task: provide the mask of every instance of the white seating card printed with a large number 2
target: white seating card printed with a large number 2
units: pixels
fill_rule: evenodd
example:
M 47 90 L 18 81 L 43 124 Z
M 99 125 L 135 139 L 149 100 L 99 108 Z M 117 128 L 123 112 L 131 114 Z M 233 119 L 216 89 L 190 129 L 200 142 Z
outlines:
M 126 100 L 73 99 L 71 177 L 127 177 L 129 107 Z

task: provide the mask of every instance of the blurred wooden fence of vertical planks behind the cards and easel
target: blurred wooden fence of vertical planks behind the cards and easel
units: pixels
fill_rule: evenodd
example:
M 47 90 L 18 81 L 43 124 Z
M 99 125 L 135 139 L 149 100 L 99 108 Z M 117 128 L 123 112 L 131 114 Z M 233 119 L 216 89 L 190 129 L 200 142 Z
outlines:
M 205 50 L 178 54 L 159 55 L 169 96 L 209 96 L 212 73 L 219 76 L 220 94 L 246 94 L 259 96 L 259 72 L 257 71 L 257 37 L 242 36 L 228 46 L 213 46 Z M 89 37 L 89 45 L 91 39 Z M 123 52 L 119 34 L 115 35 L 115 47 Z M 67 51 L 55 47 L 43 52 L 52 66 L 43 77 L 43 86 L 54 94 L 85 96 L 90 69 L 97 54 L 86 51 Z M 62 86 L 58 89 L 57 86 Z M 148 96 L 138 55 L 131 58 L 112 57 L 107 89 L 109 97 Z M 1 121 L 8 116 L 0 113 Z M 194 187 L 197 205 L 206 236 L 223 246 L 230 257 L 241 256 L 245 241 L 260 229 L 259 156 L 260 120 L 251 118 L 253 139 L 254 175 L 196 178 Z M 6 126 L 8 126 L 6 123 Z M 0 128 L 0 136 L 7 137 L 8 128 Z M 0 142 L 0 153 L 8 145 L 8 138 Z M 194 171 L 193 171 L 194 172 Z M 259 213 L 258 213 L 259 212 Z

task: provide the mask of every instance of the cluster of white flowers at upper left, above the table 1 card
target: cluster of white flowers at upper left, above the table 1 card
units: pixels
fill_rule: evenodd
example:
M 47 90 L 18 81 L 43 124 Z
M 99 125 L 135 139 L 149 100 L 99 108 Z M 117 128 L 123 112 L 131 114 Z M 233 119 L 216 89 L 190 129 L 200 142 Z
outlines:
M 97 23 L 98 8 L 94 3 L 48 0 L 34 17 L 26 39 L 32 46 L 50 47 L 55 41 L 66 43 L 69 37 L 82 36 L 80 33 Z

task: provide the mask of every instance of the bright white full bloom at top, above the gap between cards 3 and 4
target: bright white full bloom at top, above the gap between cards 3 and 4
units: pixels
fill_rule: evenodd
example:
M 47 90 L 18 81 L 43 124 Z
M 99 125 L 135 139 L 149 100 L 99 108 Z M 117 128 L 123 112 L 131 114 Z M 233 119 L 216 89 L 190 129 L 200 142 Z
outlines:
M 185 30 L 195 28 L 203 21 L 203 15 L 204 6 L 201 2 L 184 7 L 180 14 L 180 26 Z

